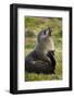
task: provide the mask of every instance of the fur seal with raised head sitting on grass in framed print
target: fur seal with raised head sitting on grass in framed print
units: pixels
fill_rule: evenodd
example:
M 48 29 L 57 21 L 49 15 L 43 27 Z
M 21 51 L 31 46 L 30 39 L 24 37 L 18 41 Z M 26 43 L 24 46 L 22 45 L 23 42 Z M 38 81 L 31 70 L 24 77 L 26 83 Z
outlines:
M 51 27 L 48 27 L 38 34 L 35 49 L 25 58 L 26 72 L 44 74 L 54 73 L 54 42 L 51 33 Z

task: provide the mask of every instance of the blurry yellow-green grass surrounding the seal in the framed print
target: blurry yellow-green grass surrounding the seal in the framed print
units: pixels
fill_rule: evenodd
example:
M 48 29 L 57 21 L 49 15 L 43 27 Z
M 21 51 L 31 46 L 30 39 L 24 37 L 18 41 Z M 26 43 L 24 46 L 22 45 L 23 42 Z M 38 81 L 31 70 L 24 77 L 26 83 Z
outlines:
M 55 46 L 55 74 L 36 74 L 36 73 L 25 73 L 25 81 L 52 81 L 62 79 L 62 19 L 59 17 L 25 17 L 25 27 L 28 36 L 26 36 L 25 42 L 25 53 L 26 56 L 33 51 L 37 34 L 46 28 L 52 27 L 52 38 Z M 32 36 L 33 35 L 33 36 Z

